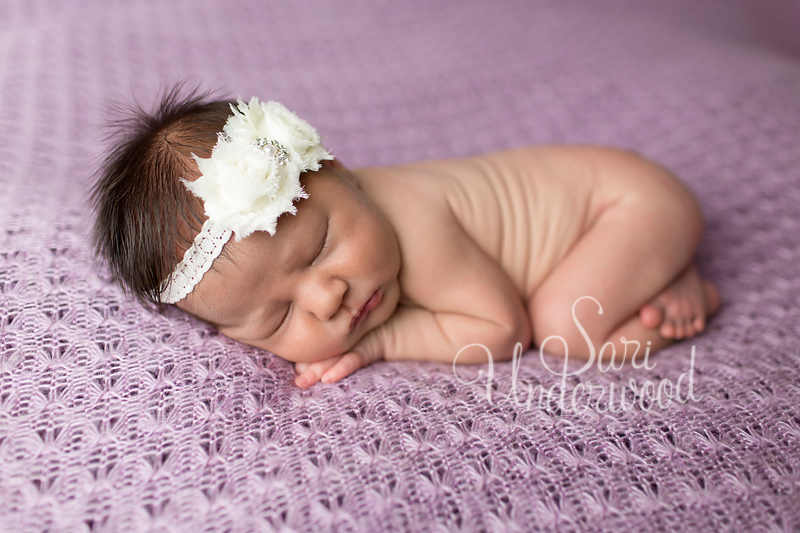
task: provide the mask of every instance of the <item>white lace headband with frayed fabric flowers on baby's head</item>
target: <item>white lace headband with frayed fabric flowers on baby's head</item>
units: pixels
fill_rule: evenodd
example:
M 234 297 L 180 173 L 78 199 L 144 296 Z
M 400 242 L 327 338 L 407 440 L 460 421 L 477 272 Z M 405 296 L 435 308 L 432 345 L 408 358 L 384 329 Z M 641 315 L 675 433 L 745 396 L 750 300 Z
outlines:
M 295 214 L 295 200 L 308 197 L 300 174 L 333 159 L 317 130 L 278 102 L 239 99 L 231 111 L 211 157 L 194 156 L 201 176 L 181 179 L 203 200 L 208 219 L 162 283 L 162 303 L 174 304 L 192 292 L 232 234 L 237 241 L 254 231 L 274 235 L 278 217 Z

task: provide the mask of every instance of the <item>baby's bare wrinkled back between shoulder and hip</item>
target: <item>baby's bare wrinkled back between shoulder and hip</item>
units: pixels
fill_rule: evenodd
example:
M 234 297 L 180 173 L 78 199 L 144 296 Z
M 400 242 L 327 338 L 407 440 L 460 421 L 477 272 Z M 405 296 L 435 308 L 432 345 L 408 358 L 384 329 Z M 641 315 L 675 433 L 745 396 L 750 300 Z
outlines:
M 592 153 L 580 147 L 521 148 L 355 174 L 401 245 L 415 211 L 439 209 L 528 298 L 600 209 Z

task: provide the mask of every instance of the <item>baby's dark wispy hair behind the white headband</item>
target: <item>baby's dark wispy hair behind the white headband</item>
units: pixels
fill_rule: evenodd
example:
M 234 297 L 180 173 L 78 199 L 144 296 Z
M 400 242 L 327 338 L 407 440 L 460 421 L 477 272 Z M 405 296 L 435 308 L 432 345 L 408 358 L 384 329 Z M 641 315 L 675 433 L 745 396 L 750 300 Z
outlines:
M 92 190 L 97 256 L 142 303 L 162 304 L 163 282 L 203 224 L 203 206 L 180 182 L 198 177 L 192 154 L 207 158 L 232 114 L 228 101 L 178 85 L 153 113 L 119 110 L 110 149 Z

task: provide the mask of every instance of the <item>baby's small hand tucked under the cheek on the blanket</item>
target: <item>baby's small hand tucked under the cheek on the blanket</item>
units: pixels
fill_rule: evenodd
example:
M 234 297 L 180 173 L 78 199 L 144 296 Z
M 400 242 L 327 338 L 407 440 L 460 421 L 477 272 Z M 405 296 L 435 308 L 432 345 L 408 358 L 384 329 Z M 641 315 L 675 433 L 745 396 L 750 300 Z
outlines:
M 318 381 L 333 383 L 381 359 L 382 345 L 377 332 L 373 330 L 347 353 L 313 363 L 295 363 L 294 369 L 298 376 L 294 382 L 301 389 L 307 389 Z

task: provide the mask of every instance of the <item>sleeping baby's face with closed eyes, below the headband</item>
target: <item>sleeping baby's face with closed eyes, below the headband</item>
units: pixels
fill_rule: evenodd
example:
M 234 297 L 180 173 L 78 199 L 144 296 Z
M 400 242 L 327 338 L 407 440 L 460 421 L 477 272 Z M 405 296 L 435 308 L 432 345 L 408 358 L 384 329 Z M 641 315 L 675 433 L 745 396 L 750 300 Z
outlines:
M 274 236 L 232 238 L 178 307 L 292 362 L 352 348 L 400 298 L 394 231 L 341 165 L 303 175 L 309 197 Z

